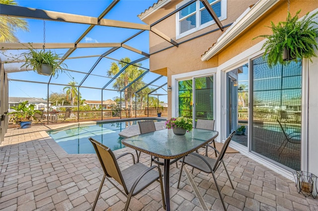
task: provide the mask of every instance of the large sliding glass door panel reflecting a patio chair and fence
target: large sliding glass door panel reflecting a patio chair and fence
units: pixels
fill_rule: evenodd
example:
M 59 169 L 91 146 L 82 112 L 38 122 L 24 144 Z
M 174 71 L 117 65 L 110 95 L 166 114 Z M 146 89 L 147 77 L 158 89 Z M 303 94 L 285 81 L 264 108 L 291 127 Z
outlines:
M 268 67 L 251 60 L 251 148 L 261 157 L 301 169 L 302 63 Z

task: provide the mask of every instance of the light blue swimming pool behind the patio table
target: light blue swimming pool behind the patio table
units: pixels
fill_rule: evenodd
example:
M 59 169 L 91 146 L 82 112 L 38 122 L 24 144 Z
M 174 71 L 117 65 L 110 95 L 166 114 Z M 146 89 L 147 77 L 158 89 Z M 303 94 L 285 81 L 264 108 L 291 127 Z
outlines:
M 48 131 L 48 134 L 68 154 L 94 154 L 95 150 L 88 140 L 89 137 L 96 139 L 113 151 L 122 149 L 125 146 L 121 143 L 122 138 L 118 134 L 127 126 L 137 124 L 138 121 L 143 121 L 143 119 L 99 122 L 93 125 L 76 125 L 58 130 L 51 130 Z

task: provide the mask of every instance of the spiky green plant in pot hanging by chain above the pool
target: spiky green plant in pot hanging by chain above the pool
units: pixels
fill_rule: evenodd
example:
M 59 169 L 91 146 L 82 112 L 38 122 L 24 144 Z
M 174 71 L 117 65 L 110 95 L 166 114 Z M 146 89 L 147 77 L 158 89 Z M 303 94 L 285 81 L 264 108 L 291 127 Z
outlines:
M 32 47 L 32 45 L 29 43 Z M 33 48 L 28 48 L 27 53 L 21 55 L 25 58 L 25 63 L 21 66 L 28 68 L 31 66 L 34 71 L 37 71 L 40 75 L 59 75 L 59 72 L 63 72 L 63 69 L 67 68 L 67 65 L 61 62 L 60 55 L 51 51 L 45 51 L 44 49 L 38 51 Z

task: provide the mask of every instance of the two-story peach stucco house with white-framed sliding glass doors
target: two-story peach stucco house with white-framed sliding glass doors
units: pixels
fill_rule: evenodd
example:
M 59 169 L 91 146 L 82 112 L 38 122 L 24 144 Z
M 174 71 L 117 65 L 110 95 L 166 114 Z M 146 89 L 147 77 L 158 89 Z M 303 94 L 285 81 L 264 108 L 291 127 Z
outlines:
M 248 130 L 245 142 L 235 136 L 231 146 L 288 178 L 293 178 L 295 170 L 318 175 L 318 58 L 312 57 L 313 63 L 303 59 L 269 68 L 261 51 L 264 39 L 253 39 L 271 34 L 265 26 L 285 21 L 288 7 L 292 16 L 302 9 L 302 17 L 318 10 L 317 1 L 291 0 L 288 6 L 285 0 L 209 0 L 224 32 L 199 0 L 175 11 L 188 2 L 159 0 L 139 15 L 172 40 L 169 43 L 150 33 L 150 71 L 166 75 L 171 86 L 168 118 L 189 113 L 215 119 L 217 140 L 222 142 L 239 126 L 238 82 L 244 81 Z M 280 110 L 296 105 L 293 109 L 301 112 L 288 119 L 280 112 L 254 115 L 254 107 L 261 102 L 279 102 Z M 299 144 L 288 143 L 283 153 L 279 146 L 284 135 L 277 120 L 302 135 L 296 140 Z

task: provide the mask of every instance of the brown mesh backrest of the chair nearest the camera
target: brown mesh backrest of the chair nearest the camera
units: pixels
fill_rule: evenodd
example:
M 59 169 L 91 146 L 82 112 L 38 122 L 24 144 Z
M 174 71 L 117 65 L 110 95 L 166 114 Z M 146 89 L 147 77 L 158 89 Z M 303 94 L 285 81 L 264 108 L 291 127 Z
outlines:
M 91 137 L 89 138 L 89 141 L 92 143 L 96 151 L 96 155 L 100 161 L 101 167 L 103 168 L 105 175 L 107 177 L 112 177 L 119 184 L 121 184 L 124 187 L 125 192 L 128 194 L 128 190 L 126 188 L 123 176 L 121 174 L 114 153 L 111 151 L 111 149 L 97 142 Z

